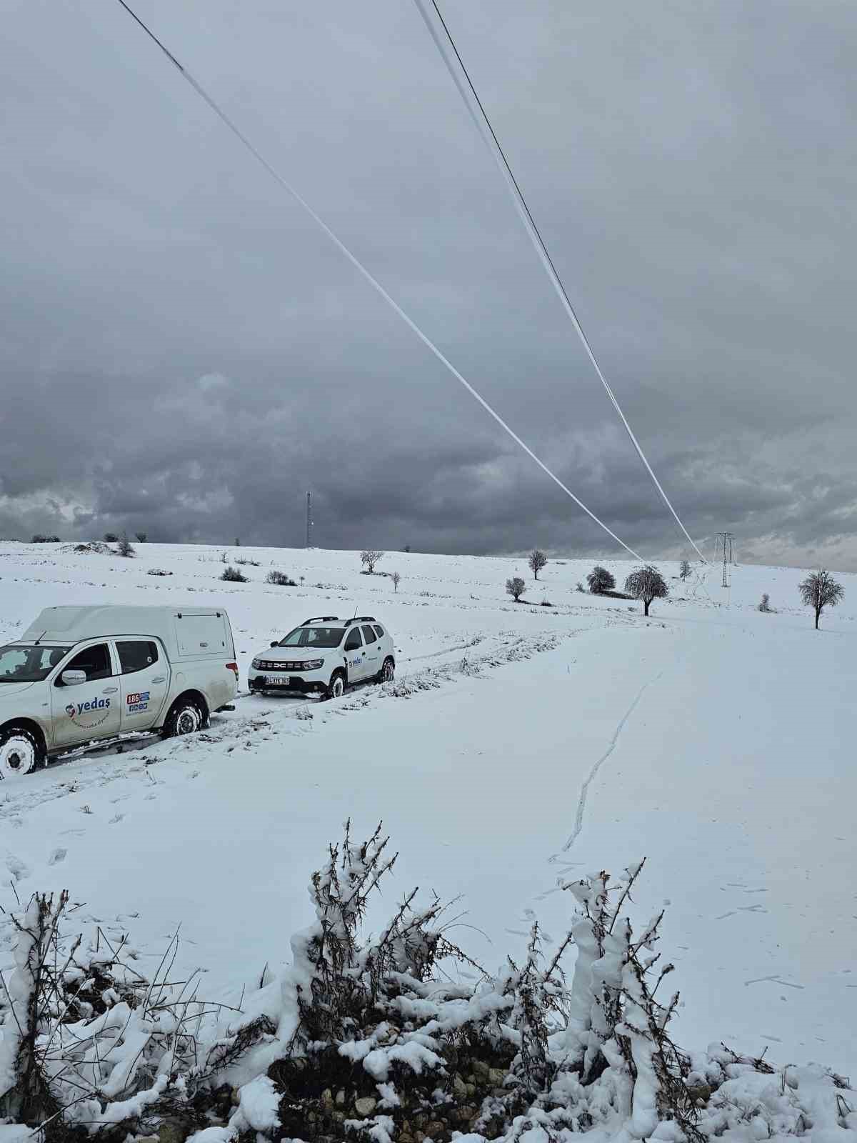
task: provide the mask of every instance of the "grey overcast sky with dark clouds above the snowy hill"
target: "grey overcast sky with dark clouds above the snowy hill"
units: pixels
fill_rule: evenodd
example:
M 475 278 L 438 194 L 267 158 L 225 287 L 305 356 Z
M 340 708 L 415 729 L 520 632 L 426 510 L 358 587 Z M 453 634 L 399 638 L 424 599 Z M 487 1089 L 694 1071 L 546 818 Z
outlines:
M 136 0 L 468 381 L 684 554 L 410 0 Z M 696 538 L 857 569 L 857 7 L 443 0 Z M 0 536 L 617 555 L 112 0 L 0 0 Z

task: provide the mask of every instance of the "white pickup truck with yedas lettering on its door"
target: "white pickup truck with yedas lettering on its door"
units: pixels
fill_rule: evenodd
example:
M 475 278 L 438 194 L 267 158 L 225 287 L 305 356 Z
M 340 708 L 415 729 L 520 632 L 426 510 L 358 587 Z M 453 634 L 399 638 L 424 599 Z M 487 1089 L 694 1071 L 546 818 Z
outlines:
M 191 734 L 237 692 L 222 608 L 48 607 L 0 647 L 0 778 L 112 738 Z

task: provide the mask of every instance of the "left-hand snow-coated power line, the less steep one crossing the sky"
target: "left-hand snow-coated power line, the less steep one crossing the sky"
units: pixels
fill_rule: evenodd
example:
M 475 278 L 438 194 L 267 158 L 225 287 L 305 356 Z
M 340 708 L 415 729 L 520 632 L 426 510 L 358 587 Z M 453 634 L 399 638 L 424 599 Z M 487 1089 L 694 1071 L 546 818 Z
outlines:
M 544 463 L 544 461 L 540 461 L 536 456 L 536 454 L 532 451 L 532 449 L 529 447 L 529 445 L 526 445 L 521 440 L 521 438 L 518 435 L 518 433 L 514 432 L 514 430 L 511 429 L 506 424 L 506 422 L 503 419 L 503 417 L 491 408 L 491 406 L 488 403 L 488 401 L 486 401 L 484 398 L 481 397 L 476 392 L 476 390 L 471 385 L 471 383 L 468 381 L 466 381 L 465 377 L 463 377 L 460 373 L 458 373 L 458 370 L 456 369 L 456 367 L 451 363 L 451 361 L 449 361 L 441 353 L 441 351 L 438 349 L 438 346 L 434 344 L 434 342 L 432 342 L 431 338 L 427 337 L 426 334 L 423 333 L 423 330 L 419 328 L 419 326 L 417 326 L 417 323 L 415 321 L 413 321 L 411 318 L 408 317 L 408 314 L 405 312 L 405 310 L 402 310 L 402 307 L 399 305 L 399 303 L 395 302 L 391 297 L 390 294 L 387 294 L 387 291 L 384 289 L 384 287 L 381 285 L 381 282 L 377 280 L 377 278 L 373 277 L 373 274 L 366 269 L 366 266 L 362 264 L 362 262 L 360 262 L 357 258 L 357 256 L 351 253 L 351 250 L 347 248 L 347 246 L 345 246 L 345 243 L 343 241 L 341 241 L 341 239 L 338 239 L 336 237 L 336 234 L 334 233 L 333 230 L 330 230 L 330 227 L 327 225 L 327 223 L 323 222 L 322 218 L 320 218 L 319 215 L 315 214 L 315 211 L 312 209 L 312 207 L 309 205 L 309 202 L 306 202 L 298 194 L 298 192 L 294 189 L 294 186 L 291 186 L 291 184 L 288 183 L 282 177 L 282 175 L 280 175 L 280 173 L 274 167 L 271 166 L 271 163 L 267 161 L 267 159 L 265 159 L 264 155 L 259 151 L 256 150 L 256 147 L 253 145 L 253 143 L 250 143 L 250 141 L 240 130 L 240 128 L 238 128 L 232 122 L 232 120 L 229 118 L 229 115 L 226 114 L 226 112 L 223 111 L 215 103 L 215 101 L 206 91 L 206 89 L 200 83 L 197 82 L 197 80 L 193 78 L 193 75 L 191 75 L 191 73 L 187 71 L 187 69 L 184 67 L 178 62 L 178 59 L 176 59 L 176 57 L 173 55 L 173 53 L 169 51 L 163 46 L 163 43 L 161 43 L 161 41 L 158 39 L 158 37 L 154 34 L 154 32 L 152 32 L 151 29 L 146 24 L 143 23 L 143 21 L 139 18 L 139 16 L 137 16 L 137 14 L 135 11 L 133 11 L 131 8 L 128 7 L 128 5 L 125 2 L 125 0 L 118 0 L 118 2 L 122 6 L 122 8 L 125 8 L 125 10 L 128 13 L 129 16 L 134 17 L 134 19 L 136 21 L 136 23 L 143 29 L 143 31 L 146 33 L 146 35 L 149 35 L 149 38 L 154 43 L 158 45 L 158 47 L 161 49 L 161 51 L 165 54 L 165 56 L 169 59 L 169 62 L 171 64 L 174 64 L 175 67 L 178 69 L 178 72 L 181 73 L 181 75 L 184 79 L 187 80 L 187 82 L 191 85 L 191 87 L 197 93 L 197 95 L 199 95 L 200 98 L 203 99 L 208 104 L 208 106 L 211 109 L 211 111 L 214 111 L 214 113 L 217 115 L 217 118 L 221 120 L 221 122 L 223 122 L 224 126 L 226 126 L 232 131 L 232 134 L 247 147 L 247 150 L 250 152 L 250 154 L 259 163 L 262 163 L 262 166 L 265 168 L 265 170 L 269 173 L 269 175 L 271 175 L 272 178 L 275 178 L 277 182 L 280 184 L 280 186 L 282 186 L 282 189 L 285 191 L 287 191 L 291 195 L 291 198 L 298 203 L 298 206 L 303 207 L 303 209 L 310 215 L 310 217 L 312 218 L 312 221 L 327 234 L 327 237 L 330 239 L 330 241 L 334 243 L 334 246 L 341 251 L 341 254 L 343 254 L 349 259 L 349 262 L 354 266 L 354 269 L 358 270 L 360 272 L 360 274 L 362 274 L 362 277 L 369 282 L 369 285 L 373 287 L 373 289 L 377 290 L 377 293 L 381 294 L 381 296 L 384 298 L 384 301 L 387 303 L 387 305 L 390 305 L 391 309 L 394 310 L 394 312 L 399 314 L 399 317 L 402 319 L 402 321 L 406 323 L 406 326 L 408 326 L 408 328 L 411 329 L 417 335 L 417 337 L 421 339 L 421 342 L 423 342 L 423 344 L 427 349 L 430 349 L 432 351 L 432 353 L 438 358 L 438 360 L 442 365 L 444 365 L 447 367 L 447 369 L 452 374 L 452 376 L 456 378 L 456 381 L 460 382 L 460 384 L 464 385 L 464 387 L 467 390 L 467 392 L 471 394 L 471 397 L 475 401 L 479 401 L 479 403 L 482 406 L 482 408 L 486 410 L 486 413 L 488 413 L 491 417 L 494 417 L 494 419 L 497 422 L 497 424 L 505 432 L 508 433 L 508 435 L 512 438 L 512 440 L 516 445 L 519 445 L 523 449 L 523 451 L 532 461 L 536 462 L 536 464 L 539 466 L 539 469 L 542 469 L 542 471 L 545 472 L 551 478 L 551 480 L 553 480 L 553 482 L 555 485 L 558 485 L 562 489 L 563 493 L 566 493 L 567 496 L 570 496 L 571 499 L 575 502 L 575 504 L 577 504 L 577 506 L 579 509 L 582 509 L 586 513 L 586 515 L 588 515 L 592 520 L 594 520 L 595 523 L 600 528 L 603 528 L 603 530 L 608 534 L 608 536 L 610 536 L 612 539 L 615 539 L 616 543 L 619 544 L 622 547 L 624 547 L 626 552 L 630 552 L 634 557 L 634 559 L 642 560 L 642 557 L 638 555 L 638 553 L 633 550 L 633 547 L 628 547 L 628 545 L 623 539 L 619 539 L 619 537 L 616 535 L 615 531 L 611 531 L 610 528 L 608 528 L 607 525 L 602 520 L 599 520 L 599 518 L 595 515 L 594 512 L 590 511 L 590 509 L 586 507 L 586 505 L 583 503 L 583 501 L 578 499 L 577 496 L 575 496 L 575 494 L 571 491 L 570 488 L 566 487 L 566 485 L 560 480 L 560 478 L 558 475 L 555 475 L 547 467 L 547 465 Z

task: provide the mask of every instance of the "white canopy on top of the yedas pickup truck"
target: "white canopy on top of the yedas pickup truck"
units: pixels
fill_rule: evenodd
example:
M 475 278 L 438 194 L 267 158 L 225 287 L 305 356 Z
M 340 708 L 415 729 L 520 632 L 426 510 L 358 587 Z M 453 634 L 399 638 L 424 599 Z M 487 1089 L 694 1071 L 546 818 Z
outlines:
M 216 607 L 46 607 L 17 642 L 81 642 L 85 639 L 154 636 L 171 660 L 234 657 L 226 613 Z

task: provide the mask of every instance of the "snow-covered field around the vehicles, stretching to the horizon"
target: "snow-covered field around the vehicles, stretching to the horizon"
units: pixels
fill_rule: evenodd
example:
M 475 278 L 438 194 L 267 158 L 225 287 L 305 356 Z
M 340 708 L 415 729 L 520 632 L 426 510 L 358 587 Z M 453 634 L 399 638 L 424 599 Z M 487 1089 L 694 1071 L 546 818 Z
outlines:
M 462 896 L 455 940 L 492 968 L 534 914 L 564 936 L 558 879 L 646 856 L 639 911 L 668 901 L 676 1039 L 857 1074 L 857 577 L 839 576 L 844 602 L 816 632 L 794 569 L 736 567 L 724 591 L 720 567 L 695 565 L 646 620 L 575 590 L 593 560 L 551 561 L 532 584 L 522 559 L 389 553 L 394 592 L 357 552 L 230 550 L 259 562 L 247 584 L 219 581 L 219 549 L 137 552 L 0 544 L 0 637 L 53 604 L 217 604 L 243 689 L 274 634 L 357 608 L 390 625 L 413 693 L 245 696 L 195 738 L 0 784 L 5 910 L 67 887 L 81 928 L 129 932 L 152 965 L 181 925 L 184 964 L 226 998 L 288 961 L 349 816 L 361 836 L 384 820 L 399 890 Z M 631 567 L 601 562 L 617 581 Z M 299 585 L 267 586 L 272 567 Z M 513 574 L 529 605 L 505 594 Z M 776 614 L 758 612 L 763 591 Z M 10 940 L 0 914 L 2 969 Z

